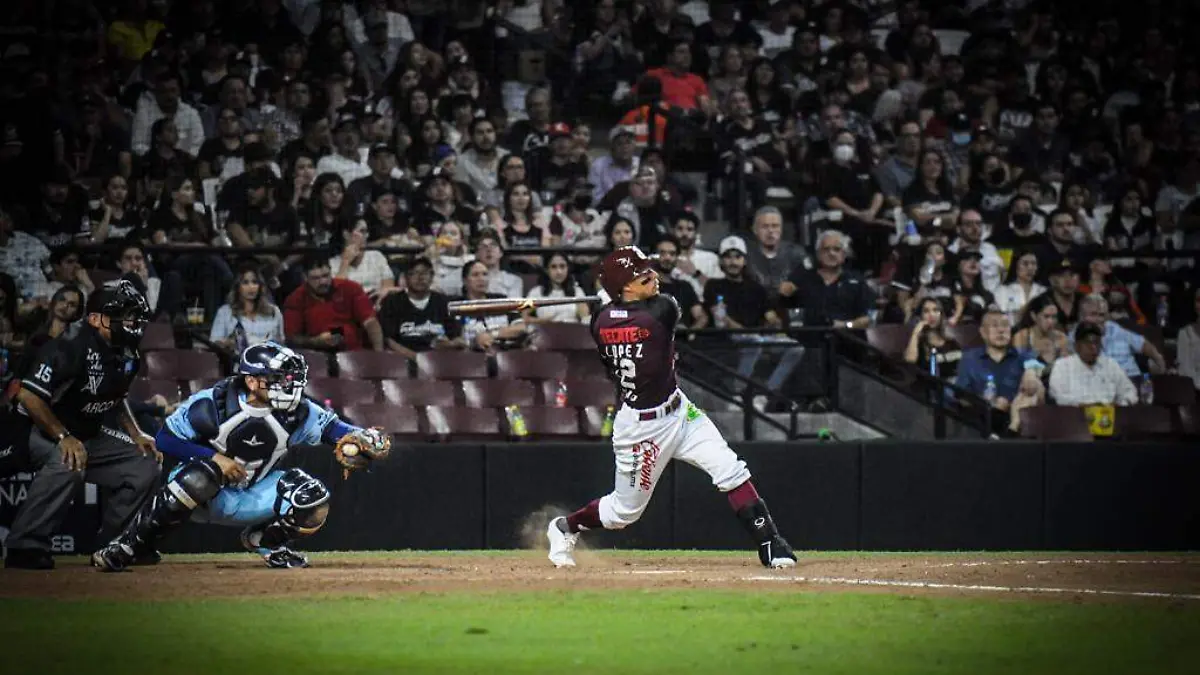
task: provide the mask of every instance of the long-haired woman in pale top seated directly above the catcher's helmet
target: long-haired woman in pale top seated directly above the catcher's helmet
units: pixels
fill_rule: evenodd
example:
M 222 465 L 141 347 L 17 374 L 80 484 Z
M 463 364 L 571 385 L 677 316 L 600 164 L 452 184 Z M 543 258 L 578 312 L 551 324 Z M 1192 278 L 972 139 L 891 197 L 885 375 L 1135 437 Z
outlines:
M 238 269 L 238 282 L 217 310 L 209 340 L 233 354 L 268 340 L 283 342 L 283 312 L 271 301 L 258 265 Z

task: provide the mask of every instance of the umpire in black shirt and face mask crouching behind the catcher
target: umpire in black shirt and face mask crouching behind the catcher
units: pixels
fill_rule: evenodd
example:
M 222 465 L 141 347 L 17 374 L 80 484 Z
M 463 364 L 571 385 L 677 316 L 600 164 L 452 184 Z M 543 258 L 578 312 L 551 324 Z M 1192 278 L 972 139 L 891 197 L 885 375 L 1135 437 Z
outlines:
M 128 281 L 97 289 L 85 322 L 30 359 L 14 417 L 29 426 L 26 459 L 36 476 L 10 528 L 6 568 L 54 569 L 50 537 L 85 479 L 101 488 L 101 542 L 121 531 L 157 483 L 161 455 L 126 402 L 149 317 L 145 298 Z M 156 551 L 137 552 L 143 562 L 157 561 Z

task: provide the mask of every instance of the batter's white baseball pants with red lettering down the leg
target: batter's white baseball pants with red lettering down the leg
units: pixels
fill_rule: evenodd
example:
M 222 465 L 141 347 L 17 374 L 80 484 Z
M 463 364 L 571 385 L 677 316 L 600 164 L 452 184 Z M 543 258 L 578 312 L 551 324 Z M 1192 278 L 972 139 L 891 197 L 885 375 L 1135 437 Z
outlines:
M 661 413 L 674 396 L 680 399 L 674 412 L 650 420 L 640 419 L 647 412 Z M 722 492 L 750 479 L 750 470 L 725 442 L 713 420 L 678 389 L 666 404 L 652 411 L 622 406 L 613 419 L 612 450 L 617 460 L 613 489 L 600 497 L 600 522 L 606 530 L 620 530 L 637 522 L 664 467 L 673 459 L 707 473 Z

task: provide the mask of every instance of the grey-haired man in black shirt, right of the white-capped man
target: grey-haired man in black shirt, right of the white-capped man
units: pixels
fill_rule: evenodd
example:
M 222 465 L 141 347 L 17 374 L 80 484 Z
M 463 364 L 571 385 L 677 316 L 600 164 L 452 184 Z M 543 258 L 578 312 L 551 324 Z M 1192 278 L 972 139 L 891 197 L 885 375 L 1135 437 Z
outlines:
M 816 269 L 796 268 L 779 286 L 785 303 L 803 310 L 804 325 L 858 330 L 870 325 L 875 298 L 863 275 L 846 269 L 848 252 L 850 238 L 827 229 L 817 240 Z

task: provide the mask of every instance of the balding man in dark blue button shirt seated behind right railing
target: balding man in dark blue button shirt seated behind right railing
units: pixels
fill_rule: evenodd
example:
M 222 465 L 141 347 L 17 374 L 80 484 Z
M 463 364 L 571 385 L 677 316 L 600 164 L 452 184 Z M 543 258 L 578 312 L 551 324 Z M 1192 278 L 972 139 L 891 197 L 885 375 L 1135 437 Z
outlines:
M 984 346 L 962 352 L 954 386 L 977 396 L 984 396 L 990 375 L 996 383 L 996 398 L 991 405 L 998 411 L 1007 412 L 1020 388 L 1026 362 L 1034 357 L 1013 346 L 1013 327 L 1008 316 L 996 309 L 989 309 L 983 316 L 979 336 L 983 338 Z

